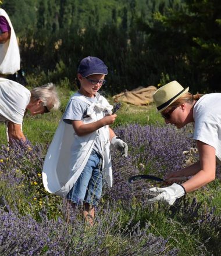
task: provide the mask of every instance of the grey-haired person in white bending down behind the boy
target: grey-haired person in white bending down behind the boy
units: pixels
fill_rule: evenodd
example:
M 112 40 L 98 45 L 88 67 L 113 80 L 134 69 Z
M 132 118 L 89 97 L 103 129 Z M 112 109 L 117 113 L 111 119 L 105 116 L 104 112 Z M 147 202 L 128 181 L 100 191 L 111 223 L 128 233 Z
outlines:
M 26 111 L 31 115 L 48 113 L 60 105 L 52 83 L 29 91 L 22 84 L 0 77 L 0 122 L 6 122 L 8 140 L 26 141 L 22 122 Z

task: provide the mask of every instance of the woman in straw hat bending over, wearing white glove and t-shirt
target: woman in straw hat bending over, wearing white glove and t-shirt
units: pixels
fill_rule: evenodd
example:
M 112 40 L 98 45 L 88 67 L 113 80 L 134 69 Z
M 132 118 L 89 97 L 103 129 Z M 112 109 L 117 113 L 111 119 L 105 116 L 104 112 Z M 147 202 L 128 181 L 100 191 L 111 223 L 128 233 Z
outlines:
M 177 128 L 194 123 L 194 140 L 199 152 L 199 161 L 176 172 L 169 173 L 165 180 L 174 182 L 169 187 L 154 187 L 159 194 L 148 200 L 150 204 L 164 201 L 172 205 L 177 198 L 196 190 L 215 179 L 216 163 L 221 164 L 221 93 L 188 93 L 177 81 L 159 88 L 153 95 L 156 108 Z M 186 182 L 177 184 L 180 177 L 189 177 Z

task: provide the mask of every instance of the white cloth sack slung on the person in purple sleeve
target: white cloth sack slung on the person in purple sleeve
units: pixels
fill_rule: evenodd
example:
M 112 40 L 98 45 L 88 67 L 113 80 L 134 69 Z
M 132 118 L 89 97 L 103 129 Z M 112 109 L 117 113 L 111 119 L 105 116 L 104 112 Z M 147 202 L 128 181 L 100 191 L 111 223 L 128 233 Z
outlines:
M 20 53 L 17 38 L 8 14 L 0 8 L 0 16 L 4 16 L 10 26 L 10 39 L 0 44 L 0 73 L 15 74 L 20 69 Z

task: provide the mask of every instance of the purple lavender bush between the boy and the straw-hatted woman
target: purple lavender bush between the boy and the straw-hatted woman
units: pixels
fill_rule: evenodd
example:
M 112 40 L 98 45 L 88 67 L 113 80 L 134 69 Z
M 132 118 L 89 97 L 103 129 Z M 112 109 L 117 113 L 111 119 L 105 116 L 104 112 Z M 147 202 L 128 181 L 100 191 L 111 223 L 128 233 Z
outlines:
M 194 141 L 185 129 L 177 131 L 172 126 L 129 125 L 118 127 L 115 133 L 129 145 L 129 157 L 122 158 L 119 152 L 112 151 L 114 184 L 105 195 L 127 204 L 134 196 L 138 201 L 145 201 L 149 187 L 156 184 L 139 180 L 134 182 L 131 190 L 127 183 L 130 176 L 149 174 L 163 177 L 167 172 L 182 168 L 186 163 L 183 152 L 194 147 Z

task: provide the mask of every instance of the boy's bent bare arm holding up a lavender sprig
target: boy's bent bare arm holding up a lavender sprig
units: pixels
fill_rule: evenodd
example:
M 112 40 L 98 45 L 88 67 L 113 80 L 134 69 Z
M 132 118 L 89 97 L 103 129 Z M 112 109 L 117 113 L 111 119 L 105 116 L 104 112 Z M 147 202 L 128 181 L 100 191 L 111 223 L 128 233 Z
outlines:
M 84 136 L 100 129 L 105 125 L 111 125 L 113 122 L 115 122 L 116 116 L 117 116 L 116 114 L 105 116 L 104 118 L 99 119 L 94 123 L 87 123 L 87 124 L 85 124 L 81 120 L 73 120 L 72 126 L 78 136 Z

